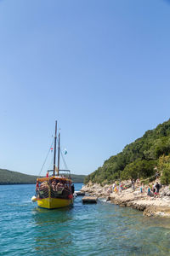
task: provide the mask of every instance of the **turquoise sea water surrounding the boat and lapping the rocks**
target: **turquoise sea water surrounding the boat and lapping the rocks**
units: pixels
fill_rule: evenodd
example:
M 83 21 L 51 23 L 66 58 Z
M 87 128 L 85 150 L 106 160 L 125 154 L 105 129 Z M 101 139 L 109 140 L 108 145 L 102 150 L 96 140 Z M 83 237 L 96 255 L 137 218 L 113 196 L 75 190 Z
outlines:
M 76 184 L 76 190 L 82 184 Z M 0 186 L 0 255 L 170 255 L 170 219 L 110 203 L 45 210 L 34 185 Z

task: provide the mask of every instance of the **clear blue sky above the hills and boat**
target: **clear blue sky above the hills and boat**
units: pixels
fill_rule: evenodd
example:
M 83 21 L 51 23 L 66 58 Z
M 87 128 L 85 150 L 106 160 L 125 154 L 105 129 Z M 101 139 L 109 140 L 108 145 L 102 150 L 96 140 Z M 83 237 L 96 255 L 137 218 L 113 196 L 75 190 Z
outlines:
M 71 172 L 94 172 L 169 96 L 170 1 L 0 1 L 0 168 L 37 174 L 57 119 Z

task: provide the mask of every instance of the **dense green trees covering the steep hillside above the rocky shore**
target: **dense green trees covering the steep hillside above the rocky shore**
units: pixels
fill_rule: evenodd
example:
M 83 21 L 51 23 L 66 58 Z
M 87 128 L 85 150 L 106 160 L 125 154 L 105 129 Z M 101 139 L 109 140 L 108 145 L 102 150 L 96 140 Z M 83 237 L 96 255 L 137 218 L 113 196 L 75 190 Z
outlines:
M 118 179 L 153 176 L 162 172 L 161 183 L 170 183 L 170 119 L 105 160 L 104 165 L 85 178 L 85 183 L 113 183 Z

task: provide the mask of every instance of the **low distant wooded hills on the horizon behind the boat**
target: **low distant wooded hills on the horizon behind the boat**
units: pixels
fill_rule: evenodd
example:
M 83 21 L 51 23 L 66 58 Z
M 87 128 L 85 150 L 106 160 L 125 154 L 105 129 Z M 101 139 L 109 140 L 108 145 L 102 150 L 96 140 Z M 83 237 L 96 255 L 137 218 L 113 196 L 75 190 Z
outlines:
M 73 183 L 83 183 L 85 175 L 71 174 Z M 0 185 L 34 184 L 37 176 L 0 169 Z

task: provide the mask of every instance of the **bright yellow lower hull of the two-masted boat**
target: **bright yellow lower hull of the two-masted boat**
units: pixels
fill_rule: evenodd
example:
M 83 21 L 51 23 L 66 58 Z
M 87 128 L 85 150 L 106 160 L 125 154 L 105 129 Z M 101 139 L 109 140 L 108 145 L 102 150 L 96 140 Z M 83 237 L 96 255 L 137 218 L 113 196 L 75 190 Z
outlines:
M 61 198 L 43 198 L 37 200 L 37 206 L 46 209 L 57 209 L 62 207 L 69 207 L 73 204 L 73 199 Z

